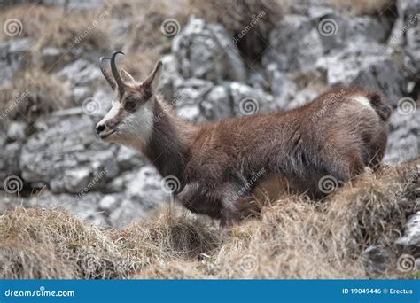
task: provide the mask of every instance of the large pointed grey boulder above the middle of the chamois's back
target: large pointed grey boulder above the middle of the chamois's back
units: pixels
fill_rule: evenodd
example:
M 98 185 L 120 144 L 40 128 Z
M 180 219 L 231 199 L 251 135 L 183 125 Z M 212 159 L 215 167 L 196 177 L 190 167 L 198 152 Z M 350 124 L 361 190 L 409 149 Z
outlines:
M 191 17 L 175 36 L 172 52 L 184 78 L 201 78 L 221 83 L 222 80 L 245 81 L 245 66 L 237 45 L 232 43 L 220 24 L 206 24 Z

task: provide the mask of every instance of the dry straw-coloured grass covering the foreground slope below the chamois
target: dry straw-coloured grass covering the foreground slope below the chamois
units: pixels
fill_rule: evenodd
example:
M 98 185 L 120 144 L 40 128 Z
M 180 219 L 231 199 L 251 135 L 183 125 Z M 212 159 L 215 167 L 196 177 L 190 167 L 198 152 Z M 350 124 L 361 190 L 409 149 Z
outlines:
M 395 245 L 420 210 L 420 160 L 364 175 L 315 203 L 284 196 L 228 234 L 178 207 L 125 229 L 100 229 L 60 210 L 15 208 L 0 217 L 4 278 L 369 278 L 363 250 Z M 417 201 L 417 202 L 416 202 Z

